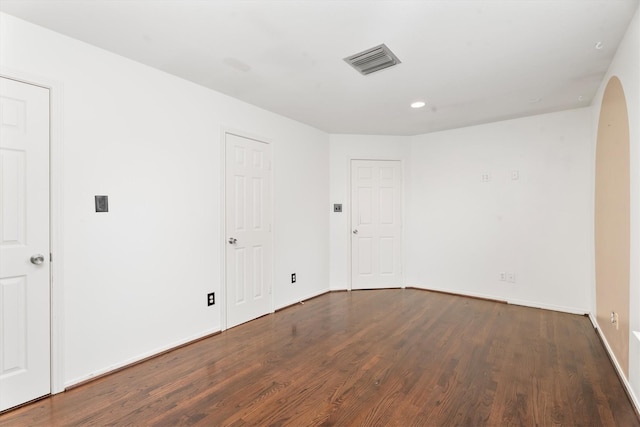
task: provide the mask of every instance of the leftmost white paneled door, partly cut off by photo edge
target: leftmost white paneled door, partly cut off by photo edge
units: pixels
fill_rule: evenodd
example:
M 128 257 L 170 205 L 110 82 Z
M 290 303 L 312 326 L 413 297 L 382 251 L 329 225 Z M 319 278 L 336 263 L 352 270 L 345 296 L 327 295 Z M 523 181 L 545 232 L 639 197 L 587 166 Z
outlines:
M 0 78 L 0 410 L 49 394 L 49 91 Z

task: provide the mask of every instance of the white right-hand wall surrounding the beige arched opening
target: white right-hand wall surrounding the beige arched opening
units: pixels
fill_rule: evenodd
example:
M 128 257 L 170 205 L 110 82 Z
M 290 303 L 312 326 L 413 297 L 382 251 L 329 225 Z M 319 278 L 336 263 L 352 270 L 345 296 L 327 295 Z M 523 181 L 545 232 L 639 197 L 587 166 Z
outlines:
M 594 97 L 592 122 L 597 129 L 602 96 L 609 79 L 617 76 L 622 83 L 629 116 L 629 143 L 631 157 L 631 271 L 629 295 L 629 383 L 635 395 L 636 405 L 640 397 L 640 341 L 633 331 L 640 331 L 640 8 L 618 47 L 616 56 Z M 594 133 L 594 147 L 597 135 Z M 592 283 L 595 296 L 595 282 Z M 595 313 L 596 301 L 591 310 Z M 612 357 L 613 354 L 611 355 Z

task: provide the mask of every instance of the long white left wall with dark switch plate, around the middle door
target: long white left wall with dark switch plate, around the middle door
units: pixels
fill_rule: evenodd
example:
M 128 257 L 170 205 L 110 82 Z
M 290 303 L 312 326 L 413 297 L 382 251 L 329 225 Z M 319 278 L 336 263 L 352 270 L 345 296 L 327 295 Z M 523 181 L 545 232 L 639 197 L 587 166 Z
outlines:
M 56 82 L 62 110 L 65 384 L 220 329 L 225 128 L 274 145 L 275 306 L 328 290 L 327 134 L 0 19 L 0 71 Z

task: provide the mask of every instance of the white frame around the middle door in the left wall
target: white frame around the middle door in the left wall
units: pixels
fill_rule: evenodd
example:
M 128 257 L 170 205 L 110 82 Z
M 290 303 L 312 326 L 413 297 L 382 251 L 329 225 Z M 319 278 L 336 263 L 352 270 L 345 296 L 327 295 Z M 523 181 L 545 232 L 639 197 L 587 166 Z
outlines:
M 271 295 L 269 296 L 269 310 L 271 313 L 275 311 L 274 309 L 274 301 L 275 301 L 275 193 L 274 193 L 274 144 L 271 140 L 267 138 L 263 138 L 259 135 L 251 134 L 249 132 L 237 130 L 230 127 L 223 127 L 221 136 L 220 136 L 220 253 L 222 255 L 222 265 L 220 267 L 220 329 L 222 331 L 227 330 L 227 211 L 226 211 L 226 202 L 227 202 L 227 135 L 235 135 L 241 138 L 253 139 L 254 141 L 259 141 L 265 144 L 269 144 L 271 147 L 271 169 L 269 170 L 269 190 L 271 191 Z

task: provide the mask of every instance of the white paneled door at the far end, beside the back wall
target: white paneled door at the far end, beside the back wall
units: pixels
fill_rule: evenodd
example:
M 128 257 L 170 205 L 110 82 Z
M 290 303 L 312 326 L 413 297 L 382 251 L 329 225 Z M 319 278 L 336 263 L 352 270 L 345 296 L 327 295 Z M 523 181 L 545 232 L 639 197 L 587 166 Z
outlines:
M 351 288 L 402 286 L 402 173 L 396 160 L 351 161 Z

